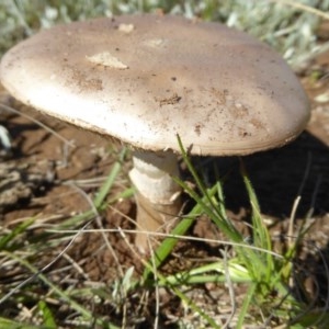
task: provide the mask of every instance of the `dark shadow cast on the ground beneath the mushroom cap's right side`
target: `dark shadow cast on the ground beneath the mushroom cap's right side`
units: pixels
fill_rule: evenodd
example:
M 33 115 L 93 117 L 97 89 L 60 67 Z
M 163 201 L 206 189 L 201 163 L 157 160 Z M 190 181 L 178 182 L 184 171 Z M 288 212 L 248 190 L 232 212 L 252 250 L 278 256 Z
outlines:
M 263 214 L 286 218 L 297 195 L 302 196 L 297 217 L 305 217 L 310 208 L 314 215 L 329 212 L 329 148 L 309 133 L 285 147 L 241 159 Z M 211 185 L 216 181 L 216 171 L 219 173 L 229 209 L 236 213 L 248 207 L 238 157 L 198 158 L 195 162 L 207 168 L 205 178 Z

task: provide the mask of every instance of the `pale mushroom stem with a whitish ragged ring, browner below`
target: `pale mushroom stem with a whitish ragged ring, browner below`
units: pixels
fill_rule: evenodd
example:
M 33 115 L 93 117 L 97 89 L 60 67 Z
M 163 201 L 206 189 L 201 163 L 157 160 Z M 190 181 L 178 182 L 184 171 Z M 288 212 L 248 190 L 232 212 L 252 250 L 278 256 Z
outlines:
M 137 202 L 137 228 L 157 231 L 168 228 L 168 224 L 179 214 L 182 189 L 172 177 L 179 177 L 178 159 L 171 151 L 133 151 L 129 177 L 135 185 Z M 136 235 L 136 246 L 145 252 L 148 236 Z

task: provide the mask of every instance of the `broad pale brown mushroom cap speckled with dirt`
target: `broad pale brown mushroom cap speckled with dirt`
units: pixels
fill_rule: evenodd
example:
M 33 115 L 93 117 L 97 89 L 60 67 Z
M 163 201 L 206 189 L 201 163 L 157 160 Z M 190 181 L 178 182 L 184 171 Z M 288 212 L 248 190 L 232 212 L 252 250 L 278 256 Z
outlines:
M 247 155 L 282 146 L 307 97 L 268 45 L 218 23 L 122 15 L 57 25 L 9 50 L 0 79 L 37 110 L 136 148 Z

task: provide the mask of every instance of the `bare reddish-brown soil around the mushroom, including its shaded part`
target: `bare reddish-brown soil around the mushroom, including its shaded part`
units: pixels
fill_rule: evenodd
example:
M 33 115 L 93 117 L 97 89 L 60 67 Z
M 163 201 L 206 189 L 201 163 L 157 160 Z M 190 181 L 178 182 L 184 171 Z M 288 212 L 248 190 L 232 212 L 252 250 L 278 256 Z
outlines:
M 324 259 L 329 261 L 329 53 L 316 57 L 300 73 L 300 80 L 309 94 L 313 107 L 306 132 L 286 147 L 245 157 L 243 163 L 277 251 L 285 248 L 288 234 L 294 235 L 302 225 L 313 224 L 304 238 L 304 249 L 300 251 L 298 262 L 299 268 L 305 269 L 305 276 L 311 277 L 305 280 L 309 295 L 317 300 L 318 306 L 322 306 L 328 287 L 324 274 Z M 34 216 L 38 218 L 37 223 L 44 229 L 47 224 L 54 225 L 90 209 L 90 200 L 117 159 L 121 146 L 95 134 L 45 117 L 13 100 L 3 89 L 0 89 L 0 101 L 22 114 L 33 116 L 68 140 L 63 141 L 22 114 L 12 114 L 0 109 L 0 124 L 9 129 L 13 143 L 12 151 L 2 152 L 0 162 L 1 229 L 13 228 Z M 75 146 L 70 147 L 70 143 Z M 250 205 L 239 174 L 239 159 L 195 158 L 193 161 L 196 167 L 209 168 L 205 172 L 205 179 L 209 184 L 215 178 L 213 168 L 217 168 L 224 181 L 230 218 L 235 223 L 248 222 Z M 127 159 L 109 200 L 129 186 L 127 177 L 129 166 Z M 189 179 L 188 173 L 185 174 Z M 300 196 L 300 201 L 294 230 L 290 231 L 290 217 L 297 196 Z M 134 229 L 134 223 L 129 218 L 134 218 L 135 213 L 134 198 L 120 198 L 95 216 L 88 228 Z M 250 234 L 248 226 L 241 227 L 248 236 Z M 201 218 L 191 234 L 202 238 L 220 237 L 220 232 L 212 227 L 207 218 Z M 78 287 L 92 284 L 94 287 L 97 283 L 100 286 L 113 285 L 113 282 L 131 266 L 135 266 L 136 273 L 143 269 L 140 256 L 133 246 L 133 240 L 134 235 L 128 234 L 125 238 L 118 232 L 83 234 L 66 250 L 66 257 L 59 258 L 52 265 L 52 270 L 46 271 L 48 279 L 60 283 L 61 286 Z M 38 269 L 45 266 L 66 245 L 67 242 L 61 243 L 48 253 L 43 252 L 43 258 L 37 259 L 35 265 Z M 220 254 L 217 248 L 212 243 L 182 242 L 177 247 L 175 253 L 163 271 L 168 273 L 178 269 L 189 269 L 191 264 L 202 262 L 202 259 L 218 256 Z M 56 271 L 58 269 L 61 270 Z M 13 271 L 12 274 L 14 273 Z M 0 274 L 2 292 L 7 292 L 4 284 L 9 276 L 9 273 Z M 317 285 L 319 291 L 316 290 Z M 207 294 L 204 294 L 205 290 Z M 164 291 L 160 292 L 160 295 L 162 298 L 160 320 L 163 328 L 171 328 L 171 324 L 182 316 L 183 307 Z M 225 322 L 228 317 L 226 313 L 229 314 L 227 309 L 230 309 L 226 290 L 208 285 L 193 290 L 191 296 L 196 296 L 201 305 L 209 305 L 209 309 L 214 300 L 220 298 L 222 310 L 218 321 Z M 143 328 L 151 327 L 155 318 L 152 308 L 155 296 L 145 297 L 148 302 L 144 308 L 140 305 L 136 306 L 134 303 L 139 303 L 140 299 L 136 302 L 134 298 L 136 297 L 131 296 L 128 302 L 134 309 L 129 315 L 134 317 L 129 320 L 131 324 L 140 324 Z M 95 304 L 93 307 L 99 314 L 111 311 L 112 314 L 107 314 L 111 320 L 123 317 L 123 310 L 115 313 L 113 305 L 101 307 Z M 64 306 L 58 307 L 57 311 L 61 316 L 66 313 Z M 192 318 L 192 315 L 185 316 Z

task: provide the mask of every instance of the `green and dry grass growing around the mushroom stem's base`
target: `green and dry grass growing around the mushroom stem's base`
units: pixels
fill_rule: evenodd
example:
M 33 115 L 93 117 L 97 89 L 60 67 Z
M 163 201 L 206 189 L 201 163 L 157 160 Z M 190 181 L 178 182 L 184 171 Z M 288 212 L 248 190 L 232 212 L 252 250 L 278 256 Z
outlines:
M 145 328 L 158 328 L 164 325 L 164 317 L 170 328 L 222 328 L 223 324 L 234 328 L 254 325 L 310 328 L 321 324 L 320 328 L 326 328 L 328 309 L 318 308 L 319 300 L 304 288 L 303 274 L 307 270 L 298 265 L 298 248 L 308 227 L 291 232 L 292 236 L 286 237 L 288 243 L 284 243 L 286 249 L 282 253 L 274 252 L 243 163 L 240 171 L 250 200 L 251 236 L 237 229 L 227 215 L 220 179 L 215 185 L 206 186 L 183 148 L 182 155 L 197 189 L 177 181 L 195 205 L 164 235 L 149 259 L 136 252 L 128 241 L 127 235 L 132 234 L 128 229 L 89 229 L 91 220 L 99 220 L 106 208 L 133 196 L 129 188 L 121 186 L 120 192 L 115 192 L 117 186 L 114 189 L 125 174 L 126 150 L 116 154 L 118 160 L 90 201 L 90 211 L 58 224 L 52 218 L 30 218 L 3 230 L 0 235 L 3 270 L 0 325 L 3 328 L 131 328 L 143 324 Z M 295 211 L 291 220 L 295 219 Z M 223 232 L 223 239 L 191 237 L 189 231 L 200 216 L 206 216 L 214 228 Z M 113 266 L 117 266 L 114 270 L 117 275 L 112 282 L 91 282 L 84 277 L 88 273 L 83 273 L 69 250 L 77 239 L 83 237 L 84 240 L 86 235 L 97 231 L 118 234 L 141 269 L 124 268 L 116 264 L 116 260 Z M 220 257 L 205 258 L 198 265 L 186 262 L 184 269 L 179 270 L 174 262 L 184 259 L 185 253 L 178 246 L 186 241 L 191 241 L 190 247 L 213 243 Z M 112 249 L 110 245 L 106 248 Z M 111 252 L 116 253 L 114 249 Z M 175 256 L 172 258 L 172 254 Z M 47 264 L 41 265 L 47 259 Z M 203 286 L 222 295 L 220 299 L 214 297 L 214 305 L 204 304 L 209 300 L 202 296 L 207 291 L 201 288 Z M 198 297 L 193 295 L 195 291 L 202 292 L 196 294 Z M 177 308 L 171 309 L 163 298 L 174 303 Z M 220 303 L 229 311 L 222 314 Z

